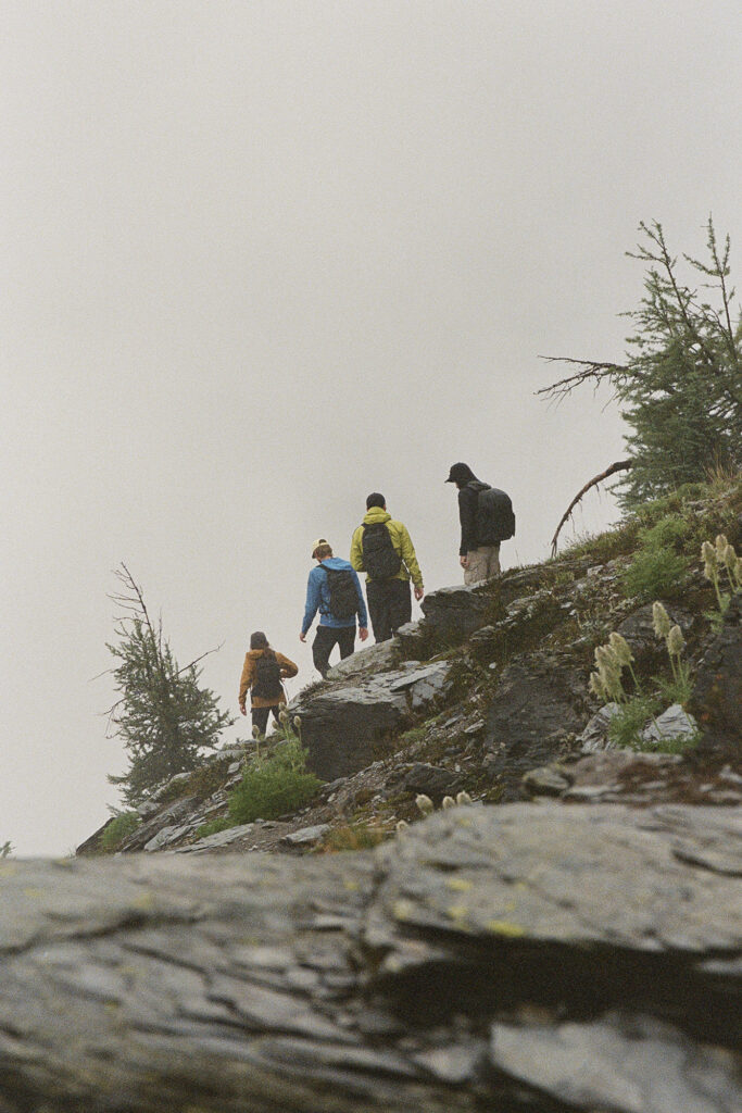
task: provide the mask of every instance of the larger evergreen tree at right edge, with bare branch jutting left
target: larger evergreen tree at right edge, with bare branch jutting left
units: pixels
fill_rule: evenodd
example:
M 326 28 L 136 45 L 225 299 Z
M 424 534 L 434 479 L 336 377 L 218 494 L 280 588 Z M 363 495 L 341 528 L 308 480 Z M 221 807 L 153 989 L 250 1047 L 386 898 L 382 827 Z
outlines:
M 733 318 L 730 240 L 720 250 L 711 217 L 708 262 L 684 255 L 702 276 L 703 295 L 679 278 L 677 259 L 656 221 L 641 224 L 631 258 L 649 264 L 623 364 L 567 359 L 578 371 L 540 393 L 570 393 L 584 382 L 609 382 L 631 432 L 631 466 L 619 484 L 626 509 L 742 463 L 742 315 Z

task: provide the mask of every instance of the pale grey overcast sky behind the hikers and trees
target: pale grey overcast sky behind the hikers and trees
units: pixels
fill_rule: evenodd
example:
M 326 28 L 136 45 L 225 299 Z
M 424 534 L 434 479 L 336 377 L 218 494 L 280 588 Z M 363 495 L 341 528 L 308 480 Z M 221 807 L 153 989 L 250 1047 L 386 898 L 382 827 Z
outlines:
M 119 802 L 98 713 L 125 560 L 237 710 L 251 630 L 300 674 L 311 541 L 378 490 L 459 581 L 464 460 L 541 560 L 621 459 L 540 354 L 619 358 L 640 220 L 739 275 L 739 4 L 1 0 L 0 844 Z M 580 532 L 615 521 L 592 495 Z M 419 613 L 416 609 L 416 613 Z M 316 676 L 316 674 L 315 674 Z M 249 726 L 244 721 L 244 735 Z

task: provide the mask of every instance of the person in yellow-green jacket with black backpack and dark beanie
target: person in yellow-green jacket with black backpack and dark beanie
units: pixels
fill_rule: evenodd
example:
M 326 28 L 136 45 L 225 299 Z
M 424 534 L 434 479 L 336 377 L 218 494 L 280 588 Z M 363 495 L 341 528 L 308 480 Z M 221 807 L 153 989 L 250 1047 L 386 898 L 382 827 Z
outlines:
M 366 515 L 353 534 L 350 563 L 366 573 L 366 599 L 376 641 L 386 641 L 413 617 L 409 581 L 422 599 L 423 574 L 407 528 L 387 512 L 375 491 L 366 499 Z

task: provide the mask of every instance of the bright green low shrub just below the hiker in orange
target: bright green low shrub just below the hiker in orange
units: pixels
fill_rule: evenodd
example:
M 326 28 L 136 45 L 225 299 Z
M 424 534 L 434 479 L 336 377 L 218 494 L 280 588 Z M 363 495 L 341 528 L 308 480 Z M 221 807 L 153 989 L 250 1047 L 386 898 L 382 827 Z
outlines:
M 231 825 L 276 819 L 297 811 L 316 795 L 321 781 L 307 772 L 307 751 L 296 740 L 279 742 L 269 757 L 256 758 L 229 797 Z

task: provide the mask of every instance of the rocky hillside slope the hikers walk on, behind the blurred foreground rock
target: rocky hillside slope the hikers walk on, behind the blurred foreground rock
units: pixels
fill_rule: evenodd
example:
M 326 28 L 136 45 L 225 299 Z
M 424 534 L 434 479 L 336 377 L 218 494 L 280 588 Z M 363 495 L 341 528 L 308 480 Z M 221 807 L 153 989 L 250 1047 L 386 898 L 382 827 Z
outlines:
M 300 809 L 229 826 L 229 795 L 255 760 L 251 743 L 162 786 L 112 848 L 363 847 L 390 837 L 399 820 L 419 819 L 421 794 L 435 807 L 461 791 L 485 804 L 544 795 L 564 802 L 739 804 L 739 597 L 723 623 L 714 617 L 719 599 L 699 554 L 719 534 L 739 550 L 741 513 L 739 481 L 694 485 L 556 560 L 432 592 L 423 620 L 355 653 L 290 706 L 309 767 L 324 781 Z M 730 593 L 723 562 L 719 573 L 720 590 Z M 655 600 L 682 631 L 685 644 L 673 659 L 653 630 Z M 619 708 L 588 687 L 594 651 L 612 633 L 633 654 Z M 680 666 L 690 677 L 685 710 L 674 683 Z M 616 710 L 622 721 L 646 711 L 629 747 L 615 741 L 625 741 L 631 721 L 623 732 L 614 723 L 607 737 Z M 659 743 L 652 732 L 662 736 Z M 268 739 L 268 752 L 280 738 Z M 110 824 L 78 854 L 97 853 Z

